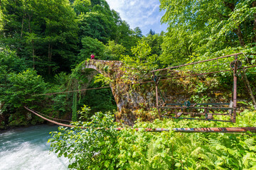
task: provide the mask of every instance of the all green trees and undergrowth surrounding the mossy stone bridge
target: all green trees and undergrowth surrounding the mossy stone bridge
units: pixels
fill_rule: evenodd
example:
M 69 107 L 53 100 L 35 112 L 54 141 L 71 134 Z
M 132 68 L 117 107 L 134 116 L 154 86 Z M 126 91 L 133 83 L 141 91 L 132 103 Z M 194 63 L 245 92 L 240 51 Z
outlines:
M 121 61 L 123 81 L 126 77 L 142 81 L 151 70 L 238 52 L 243 54 L 242 63 L 255 64 L 256 1 L 160 0 L 160 10 L 161 22 L 168 24 L 166 32 L 150 30 L 143 35 L 105 0 L 1 0 L 0 129 L 46 123 L 23 106 L 89 127 L 52 132 L 51 149 L 70 159 L 70 169 L 256 169 L 256 138 L 250 132 L 154 133 L 127 126 L 117 132 L 112 129 L 125 124 L 117 119 L 129 112 L 117 111 L 111 89 L 79 91 L 110 84 L 92 69 L 82 71 L 81 64 L 90 61 L 92 53 L 95 60 Z M 200 65 L 197 70 L 210 68 Z M 253 94 L 255 73 L 255 68 L 246 73 Z M 203 93 L 214 88 L 225 91 L 233 84 L 228 73 L 206 80 L 218 85 L 193 81 L 196 85 L 188 87 L 192 101 L 210 101 Z M 155 108 L 140 103 L 133 127 L 256 127 L 250 96 L 242 81 L 238 83 L 243 101 L 236 123 L 159 120 Z M 63 91 L 73 92 L 53 94 Z M 229 96 L 226 92 L 224 96 Z

